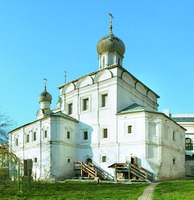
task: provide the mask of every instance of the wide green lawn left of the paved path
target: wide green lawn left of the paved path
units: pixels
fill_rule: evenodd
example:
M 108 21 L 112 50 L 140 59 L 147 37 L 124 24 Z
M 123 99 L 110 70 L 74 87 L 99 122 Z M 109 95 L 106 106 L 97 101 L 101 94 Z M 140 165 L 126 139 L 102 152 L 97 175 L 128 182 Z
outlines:
M 17 190 L 17 183 L 7 182 L 5 189 L 0 185 L 0 199 L 111 199 L 135 200 L 142 194 L 147 184 L 119 184 L 96 182 L 32 182 L 22 185 L 22 193 Z

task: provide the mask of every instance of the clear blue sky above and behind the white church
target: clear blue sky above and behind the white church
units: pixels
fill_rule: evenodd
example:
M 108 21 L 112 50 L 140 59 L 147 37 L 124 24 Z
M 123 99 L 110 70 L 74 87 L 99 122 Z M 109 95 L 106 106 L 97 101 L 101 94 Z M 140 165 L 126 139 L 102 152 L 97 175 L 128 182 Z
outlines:
M 0 112 L 34 121 L 44 78 L 55 108 L 64 71 L 71 81 L 98 70 L 108 13 L 123 67 L 160 96 L 159 111 L 194 113 L 193 0 L 0 0 Z

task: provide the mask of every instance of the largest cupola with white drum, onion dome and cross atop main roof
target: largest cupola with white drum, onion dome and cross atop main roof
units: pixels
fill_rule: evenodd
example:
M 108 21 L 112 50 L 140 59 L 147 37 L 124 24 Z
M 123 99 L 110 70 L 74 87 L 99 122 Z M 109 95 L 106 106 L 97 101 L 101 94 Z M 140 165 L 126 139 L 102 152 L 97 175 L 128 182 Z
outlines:
M 112 14 L 110 15 L 110 32 L 108 35 L 99 40 L 97 44 L 99 69 L 118 64 L 122 66 L 125 53 L 125 45 L 121 39 L 116 37 L 112 32 Z

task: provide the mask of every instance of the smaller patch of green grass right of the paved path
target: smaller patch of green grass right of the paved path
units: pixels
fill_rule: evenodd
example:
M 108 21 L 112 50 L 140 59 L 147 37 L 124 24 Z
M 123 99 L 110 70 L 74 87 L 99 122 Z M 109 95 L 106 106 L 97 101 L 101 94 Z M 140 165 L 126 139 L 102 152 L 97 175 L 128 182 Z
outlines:
M 194 199 L 194 180 L 164 182 L 155 187 L 153 200 L 183 199 Z

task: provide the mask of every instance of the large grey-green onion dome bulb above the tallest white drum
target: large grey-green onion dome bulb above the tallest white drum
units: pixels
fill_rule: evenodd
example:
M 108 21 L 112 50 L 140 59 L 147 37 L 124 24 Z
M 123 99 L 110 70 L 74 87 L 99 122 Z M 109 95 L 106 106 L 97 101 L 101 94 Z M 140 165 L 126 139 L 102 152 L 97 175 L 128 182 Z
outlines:
M 125 53 L 125 45 L 121 39 L 116 37 L 112 32 L 102 39 L 97 44 L 98 54 L 105 52 L 117 52 L 121 56 Z

